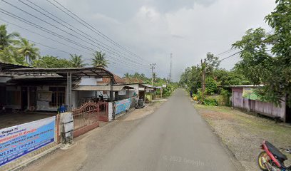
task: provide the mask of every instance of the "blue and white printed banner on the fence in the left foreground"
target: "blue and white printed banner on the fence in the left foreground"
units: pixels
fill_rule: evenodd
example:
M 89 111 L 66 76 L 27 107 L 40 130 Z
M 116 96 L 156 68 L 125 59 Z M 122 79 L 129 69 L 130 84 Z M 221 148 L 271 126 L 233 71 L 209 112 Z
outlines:
M 0 166 L 54 141 L 55 116 L 0 130 Z

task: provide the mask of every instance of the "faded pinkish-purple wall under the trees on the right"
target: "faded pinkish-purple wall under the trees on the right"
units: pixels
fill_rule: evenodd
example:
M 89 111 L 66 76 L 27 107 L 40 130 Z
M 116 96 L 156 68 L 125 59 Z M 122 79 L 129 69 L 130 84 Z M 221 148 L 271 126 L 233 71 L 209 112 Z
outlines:
M 285 98 L 280 106 L 275 106 L 272 103 L 262 102 L 259 100 L 250 100 L 242 98 L 243 88 L 232 88 L 233 93 L 233 107 L 242 108 L 250 112 L 260 113 L 270 117 L 280 117 L 281 120 L 286 121 L 286 103 Z

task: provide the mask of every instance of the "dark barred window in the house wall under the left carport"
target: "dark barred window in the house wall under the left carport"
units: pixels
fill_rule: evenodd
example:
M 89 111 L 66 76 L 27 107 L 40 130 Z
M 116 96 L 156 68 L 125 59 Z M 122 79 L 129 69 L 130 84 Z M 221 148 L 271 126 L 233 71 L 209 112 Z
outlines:
M 64 87 L 50 87 L 51 91 L 51 102 L 49 103 L 52 107 L 58 107 L 66 103 L 66 88 Z

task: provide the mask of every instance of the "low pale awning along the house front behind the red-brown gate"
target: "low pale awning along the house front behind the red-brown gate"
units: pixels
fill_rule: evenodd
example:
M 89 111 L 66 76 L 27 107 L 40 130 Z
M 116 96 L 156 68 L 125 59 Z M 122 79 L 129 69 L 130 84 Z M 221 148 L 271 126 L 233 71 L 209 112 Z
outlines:
M 124 89 L 133 89 L 129 86 L 113 86 L 113 91 L 121 91 Z M 72 90 L 83 90 L 83 91 L 110 91 L 110 86 L 78 86 Z

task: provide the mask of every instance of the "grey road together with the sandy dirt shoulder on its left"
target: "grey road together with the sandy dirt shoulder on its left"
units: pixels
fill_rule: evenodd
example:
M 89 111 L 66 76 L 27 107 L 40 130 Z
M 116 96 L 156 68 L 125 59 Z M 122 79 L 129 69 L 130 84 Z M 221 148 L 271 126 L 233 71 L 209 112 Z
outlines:
M 56 150 L 23 171 L 241 170 L 184 90 L 159 105 L 134 110 L 81 135 L 70 148 Z

